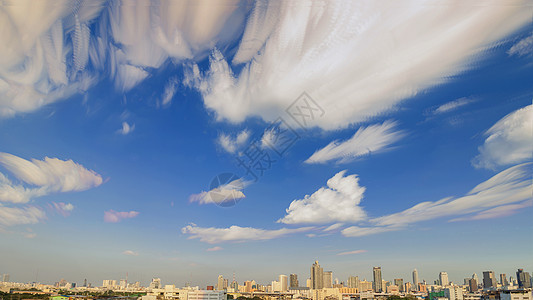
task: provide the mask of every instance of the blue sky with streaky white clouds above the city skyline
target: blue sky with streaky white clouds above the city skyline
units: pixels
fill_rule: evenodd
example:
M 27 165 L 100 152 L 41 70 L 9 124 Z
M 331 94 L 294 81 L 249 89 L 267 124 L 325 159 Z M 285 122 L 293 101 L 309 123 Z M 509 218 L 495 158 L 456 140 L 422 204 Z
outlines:
M 43 3 L 0 7 L 0 273 L 533 268 L 526 2 Z M 303 92 L 323 111 L 304 127 Z M 281 156 L 278 118 L 298 136 Z M 275 160 L 257 180 L 237 164 L 254 141 Z

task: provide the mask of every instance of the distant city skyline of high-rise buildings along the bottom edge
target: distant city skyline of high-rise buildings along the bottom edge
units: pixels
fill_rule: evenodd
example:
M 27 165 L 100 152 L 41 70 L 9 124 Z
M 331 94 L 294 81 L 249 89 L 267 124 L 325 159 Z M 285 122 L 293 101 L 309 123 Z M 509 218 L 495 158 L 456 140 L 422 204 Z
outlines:
M 255 280 L 237 282 L 218 275 L 216 282 L 205 287 L 185 284 L 165 284 L 160 278 L 153 278 L 148 286 L 128 279 L 106 279 L 101 286 L 88 283 L 69 282 L 65 279 L 54 284 L 37 282 L 10 282 L 9 274 L 3 274 L 0 284 L 0 299 L 25 295 L 24 299 L 69 300 L 80 298 L 135 298 L 138 300 L 227 300 L 227 299 L 302 299 L 302 300 L 533 300 L 533 280 L 529 272 L 518 269 L 515 274 L 496 274 L 483 271 L 481 279 L 476 273 L 464 278 L 463 282 L 452 282 L 448 273 L 442 271 L 433 282 L 420 280 L 417 269 L 412 278 L 384 280 L 381 267 L 373 267 L 371 281 L 349 276 L 346 281 L 334 279 L 332 271 L 324 271 L 318 261 L 310 267 L 309 276 L 300 281 L 297 274 L 281 274 L 277 280 L 260 284 Z M 28 298 L 29 297 L 29 298 Z

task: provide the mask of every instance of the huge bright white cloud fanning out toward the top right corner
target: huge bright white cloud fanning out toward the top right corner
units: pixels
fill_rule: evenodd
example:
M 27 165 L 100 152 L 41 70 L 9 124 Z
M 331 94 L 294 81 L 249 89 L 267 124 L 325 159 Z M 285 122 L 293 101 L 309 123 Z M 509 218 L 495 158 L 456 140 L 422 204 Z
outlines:
M 233 58 L 240 71 L 215 50 L 187 82 L 218 120 L 273 121 L 306 91 L 325 111 L 312 125 L 343 128 L 474 67 L 530 22 L 527 1 L 509 3 L 257 2 Z

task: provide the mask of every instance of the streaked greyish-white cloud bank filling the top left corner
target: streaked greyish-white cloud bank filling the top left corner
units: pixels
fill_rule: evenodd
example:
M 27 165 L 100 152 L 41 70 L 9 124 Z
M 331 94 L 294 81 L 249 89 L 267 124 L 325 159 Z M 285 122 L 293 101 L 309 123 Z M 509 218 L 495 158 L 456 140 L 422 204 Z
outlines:
M 202 59 L 212 47 L 240 36 L 248 9 L 238 3 L 43 0 L 4 5 L 0 117 L 83 93 L 102 76 L 110 76 L 125 92 L 168 59 Z

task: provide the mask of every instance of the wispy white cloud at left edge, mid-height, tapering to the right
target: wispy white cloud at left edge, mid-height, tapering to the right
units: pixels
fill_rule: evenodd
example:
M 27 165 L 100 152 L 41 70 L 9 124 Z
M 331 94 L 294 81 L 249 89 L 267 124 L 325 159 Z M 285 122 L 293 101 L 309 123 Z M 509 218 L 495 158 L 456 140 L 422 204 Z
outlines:
M 27 186 L 15 184 L 0 173 L 0 201 L 25 203 L 58 192 L 84 191 L 102 184 L 102 177 L 72 160 L 45 157 L 25 160 L 0 152 L 0 166 Z

